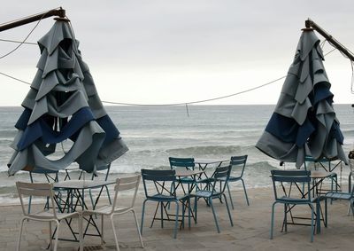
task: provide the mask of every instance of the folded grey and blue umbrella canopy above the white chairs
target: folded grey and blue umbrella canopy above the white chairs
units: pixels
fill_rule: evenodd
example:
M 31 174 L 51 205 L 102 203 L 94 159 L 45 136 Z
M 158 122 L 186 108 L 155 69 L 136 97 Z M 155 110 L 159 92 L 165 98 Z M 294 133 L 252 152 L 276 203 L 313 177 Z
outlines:
M 65 169 L 73 162 L 93 172 L 127 152 L 98 97 L 68 21 L 58 20 L 38 41 L 41 57 L 15 127 L 9 175 L 19 170 Z M 70 150 L 61 150 L 63 141 Z M 60 147 L 58 147 L 59 145 Z M 57 158 L 52 158 L 57 153 Z

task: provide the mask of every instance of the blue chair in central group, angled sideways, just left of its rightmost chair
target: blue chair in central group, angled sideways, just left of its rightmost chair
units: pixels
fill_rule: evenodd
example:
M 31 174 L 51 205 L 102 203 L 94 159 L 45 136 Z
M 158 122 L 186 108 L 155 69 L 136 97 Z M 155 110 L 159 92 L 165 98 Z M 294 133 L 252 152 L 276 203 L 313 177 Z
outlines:
M 190 194 L 191 197 L 195 197 L 195 204 L 194 204 L 195 221 L 197 219 L 197 200 L 199 198 L 203 198 L 207 200 L 208 205 L 210 205 L 212 208 L 212 215 L 214 216 L 214 221 L 218 232 L 220 232 L 220 230 L 219 230 L 218 219 L 215 214 L 215 209 L 212 204 L 213 199 L 221 200 L 221 196 L 224 197 L 225 204 L 227 206 L 228 217 L 230 219 L 230 224 L 231 226 L 234 226 L 230 209 L 228 208 L 227 196 L 225 195 L 225 188 L 227 187 L 227 181 L 230 176 L 230 171 L 231 171 L 231 166 L 216 168 L 212 176 L 212 179 L 210 179 L 211 184 L 206 189 L 197 188 L 197 191 L 195 193 Z

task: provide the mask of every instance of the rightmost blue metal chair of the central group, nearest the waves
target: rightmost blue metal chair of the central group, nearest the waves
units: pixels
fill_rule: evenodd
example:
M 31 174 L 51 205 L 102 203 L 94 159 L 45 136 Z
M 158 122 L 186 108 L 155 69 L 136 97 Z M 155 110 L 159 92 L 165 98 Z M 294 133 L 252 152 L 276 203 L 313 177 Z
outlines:
M 228 179 L 228 183 L 242 181 L 244 196 L 246 197 L 247 205 L 250 206 L 249 198 L 248 198 L 247 192 L 246 192 L 246 187 L 244 185 L 244 181 L 242 178 L 244 168 L 246 167 L 247 157 L 248 157 L 248 155 L 232 156 L 231 157 L 230 165 L 232 167 L 232 169 L 231 169 L 232 175 L 230 175 L 230 177 Z M 227 183 L 227 192 L 228 192 L 228 196 L 230 197 L 231 206 L 234 209 L 234 202 L 231 198 L 231 192 L 230 192 L 230 187 L 229 187 L 228 183 Z

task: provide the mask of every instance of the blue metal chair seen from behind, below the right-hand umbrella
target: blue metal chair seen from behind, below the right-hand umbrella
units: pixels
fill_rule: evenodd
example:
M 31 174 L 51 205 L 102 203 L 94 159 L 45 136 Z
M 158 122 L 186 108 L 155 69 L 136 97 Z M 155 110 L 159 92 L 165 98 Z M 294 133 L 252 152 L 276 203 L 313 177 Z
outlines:
M 294 205 L 308 205 L 311 208 L 311 241 L 313 241 L 313 231 L 315 227 L 315 213 L 313 203 L 316 203 L 316 216 L 319 230 L 319 199 L 311 197 L 311 171 L 307 170 L 271 170 L 275 201 L 272 206 L 272 223 L 270 239 L 273 239 L 274 208 L 281 203 L 284 205 L 285 231 L 287 227 L 287 215 L 291 214 L 291 207 Z M 294 188 L 294 189 L 292 189 Z M 279 196 L 277 190 L 280 189 L 283 196 Z M 289 189 L 289 190 L 288 190 Z M 291 190 L 292 189 L 292 190 Z M 293 208 L 293 207 L 292 207 Z

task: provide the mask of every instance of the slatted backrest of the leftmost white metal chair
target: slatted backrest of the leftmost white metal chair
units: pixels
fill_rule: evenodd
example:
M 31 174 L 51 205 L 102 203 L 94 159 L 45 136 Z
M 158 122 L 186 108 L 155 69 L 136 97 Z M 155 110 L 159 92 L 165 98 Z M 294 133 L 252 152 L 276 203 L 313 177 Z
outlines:
M 22 212 L 25 216 L 35 216 L 33 213 L 29 213 L 25 210 L 25 196 L 32 198 L 41 198 L 50 199 L 51 210 L 54 218 L 57 218 L 55 203 L 54 203 L 54 192 L 53 192 L 53 184 L 52 183 L 25 183 L 25 182 L 16 182 L 17 191 L 19 192 L 19 201 L 21 202 Z M 44 201 L 44 200 L 43 200 Z M 53 216 L 41 216 L 42 218 L 53 218 Z

